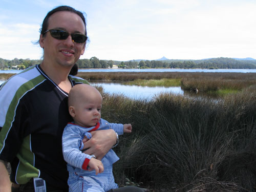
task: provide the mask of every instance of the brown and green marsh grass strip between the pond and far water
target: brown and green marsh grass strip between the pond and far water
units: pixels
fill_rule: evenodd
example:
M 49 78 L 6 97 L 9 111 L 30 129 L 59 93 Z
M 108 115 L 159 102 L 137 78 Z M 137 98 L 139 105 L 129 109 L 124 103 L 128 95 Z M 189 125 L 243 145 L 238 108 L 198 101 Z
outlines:
M 123 80 L 138 86 L 181 86 L 185 91 L 197 89 L 201 93 L 224 96 L 237 93 L 256 84 L 254 73 L 185 73 L 185 72 L 81 72 L 88 80 Z

